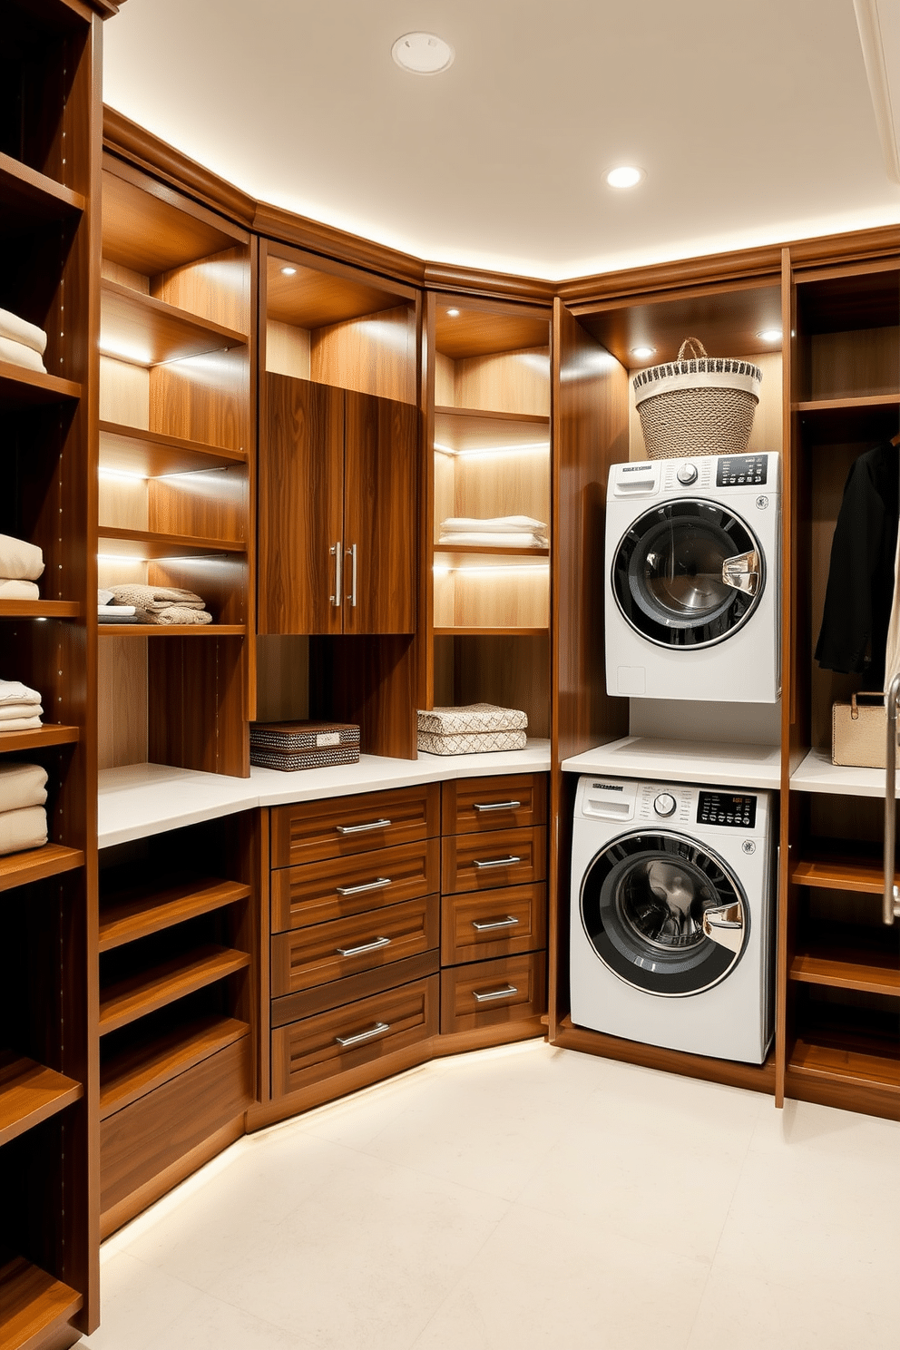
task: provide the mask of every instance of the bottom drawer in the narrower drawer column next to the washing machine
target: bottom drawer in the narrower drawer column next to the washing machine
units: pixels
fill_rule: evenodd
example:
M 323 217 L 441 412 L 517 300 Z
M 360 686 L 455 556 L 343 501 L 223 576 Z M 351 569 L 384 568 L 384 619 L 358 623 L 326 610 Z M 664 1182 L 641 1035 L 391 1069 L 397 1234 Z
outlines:
M 441 971 L 441 1035 L 546 1013 L 546 953 L 502 956 Z

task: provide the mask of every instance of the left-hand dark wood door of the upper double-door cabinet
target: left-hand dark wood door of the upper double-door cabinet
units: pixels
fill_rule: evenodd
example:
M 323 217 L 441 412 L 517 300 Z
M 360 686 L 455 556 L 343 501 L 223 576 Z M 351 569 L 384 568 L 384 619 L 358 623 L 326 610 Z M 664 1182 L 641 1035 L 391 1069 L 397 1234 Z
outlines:
M 333 597 L 340 601 L 335 575 L 344 543 L 344 392 L 273 374 L 266 386 L 259 632 L 340 633 L 343 610 Z

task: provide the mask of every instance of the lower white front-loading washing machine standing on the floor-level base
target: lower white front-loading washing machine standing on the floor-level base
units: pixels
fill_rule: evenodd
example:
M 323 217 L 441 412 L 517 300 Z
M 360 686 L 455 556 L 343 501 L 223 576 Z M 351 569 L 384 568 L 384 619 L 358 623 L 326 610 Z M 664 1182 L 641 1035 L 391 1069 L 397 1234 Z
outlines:
M 772 1042 L 769 792 L 582 778 L 572 1022 L 762 1064 Z

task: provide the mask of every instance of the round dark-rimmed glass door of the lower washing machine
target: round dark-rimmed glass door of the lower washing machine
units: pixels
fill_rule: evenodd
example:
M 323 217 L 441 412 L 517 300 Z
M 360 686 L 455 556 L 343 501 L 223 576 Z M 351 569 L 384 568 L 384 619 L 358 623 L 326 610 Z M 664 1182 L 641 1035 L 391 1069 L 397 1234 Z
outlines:
M 700 994 L 743 953 L 749 915 L 722 859 L 680 834 L 609 844 L 582 884 L 582 923 L 604 965 L 664 998 Z

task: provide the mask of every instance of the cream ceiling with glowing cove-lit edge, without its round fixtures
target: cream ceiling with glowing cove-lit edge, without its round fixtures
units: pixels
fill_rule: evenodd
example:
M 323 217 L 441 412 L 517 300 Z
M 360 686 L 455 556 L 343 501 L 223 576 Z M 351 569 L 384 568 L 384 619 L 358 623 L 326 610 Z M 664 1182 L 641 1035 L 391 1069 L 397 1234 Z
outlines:
M 896 31 L 900 0 L 857 3 Z M 398 69 L 410 30 L 453 66 Z M 128 0 L 104 97 L 434 262 L 560 279 L 900 221 L 853 0 Z

